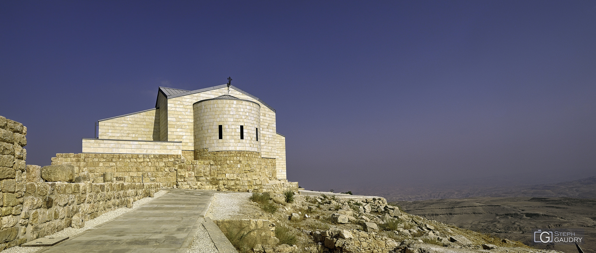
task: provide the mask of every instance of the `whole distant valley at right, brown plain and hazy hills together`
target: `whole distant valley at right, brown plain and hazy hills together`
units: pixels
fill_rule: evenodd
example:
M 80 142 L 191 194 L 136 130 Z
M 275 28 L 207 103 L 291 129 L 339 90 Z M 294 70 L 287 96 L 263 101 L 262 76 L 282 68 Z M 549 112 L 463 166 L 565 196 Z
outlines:
M 355 190 L 368 195 L 373 191 Z M 531 186 L 421 186 L 376 192 L 409 214 L 539 249 L 578 252 L 573 243 L 533 243 L 533 232 L 538 229 L 582 232 L 583 251 L 596 252 L 596 176 Z

